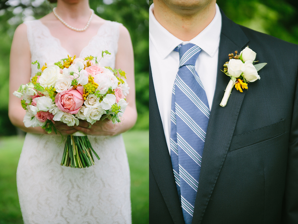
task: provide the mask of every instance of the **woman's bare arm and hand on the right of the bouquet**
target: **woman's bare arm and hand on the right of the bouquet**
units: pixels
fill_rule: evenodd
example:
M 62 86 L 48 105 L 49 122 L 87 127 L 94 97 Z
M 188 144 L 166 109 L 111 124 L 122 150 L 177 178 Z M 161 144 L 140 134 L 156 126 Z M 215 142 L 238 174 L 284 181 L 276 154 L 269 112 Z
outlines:
M 128 106 L 122 116 L 122 122 L 113 124 L 107 119 L 97 121 L 90 128 L 86 121 L 80 121 L 80 126 L 75 127 L 78 131 L 82 131 L 88 135 L 116 135 L 130 129 L 136 123 L 136 94 L 134 83 L 134 52 L 131 38 L 128 30 L 124 26 L 120 26 L 120 34 L 118 41 L 118 51 L 116 54 L 115 67 L 121 68 L 126 73 L 126 81 L 128 83 L 129 93 L 126 96 Z

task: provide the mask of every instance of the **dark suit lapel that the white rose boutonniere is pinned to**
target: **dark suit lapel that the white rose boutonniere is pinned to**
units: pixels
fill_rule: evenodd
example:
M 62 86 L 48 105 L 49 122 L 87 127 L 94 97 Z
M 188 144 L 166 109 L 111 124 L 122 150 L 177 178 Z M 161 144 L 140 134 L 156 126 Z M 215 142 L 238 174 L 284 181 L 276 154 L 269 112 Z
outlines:
M 192 223 L 196 224 L 202 221 L 221 167 L 224 164 L 240 107 L 246 93 L 246 91 L 240 93 L 237 90 L 232 90 L 227 105 L 225 107 L 219 105 L 230 79 L 221 71 L 223 70 L 224 63 L 229 60 L 228 54 L 233 53 L 235 50 L 240 52 L 249 42 L 239 25 L 229 20 L 222 11 L 221 15 L 222 31 L 218 52 L 218 74 L 202 155 L 200 180 L 193 213 Z

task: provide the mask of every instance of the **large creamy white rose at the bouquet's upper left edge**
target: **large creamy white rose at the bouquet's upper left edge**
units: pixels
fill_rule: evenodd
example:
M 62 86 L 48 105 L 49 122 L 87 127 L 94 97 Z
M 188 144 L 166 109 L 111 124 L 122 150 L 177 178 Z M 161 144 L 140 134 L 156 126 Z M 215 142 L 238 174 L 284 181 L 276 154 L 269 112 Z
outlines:
M 57 65 L 47 67 L 38 79 L 39 84 L 46 88 L 48 86 L 55 86 L 56 80 L 60 78 L 60 68 Z

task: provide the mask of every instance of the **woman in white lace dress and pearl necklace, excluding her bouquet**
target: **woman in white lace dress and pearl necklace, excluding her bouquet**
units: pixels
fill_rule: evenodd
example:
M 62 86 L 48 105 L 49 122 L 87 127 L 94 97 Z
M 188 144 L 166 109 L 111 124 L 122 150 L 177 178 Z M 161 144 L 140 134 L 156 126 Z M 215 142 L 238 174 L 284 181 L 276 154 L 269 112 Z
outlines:
M 24 223 L 131 223 L 130 174 L 120 135 L 134 125 L 137 116 L 129 33 L 121 24 L 96 16 L 88 0 L 58 0 L 54 12 L 18 26 L 10 52 L 9 116 L 15 126 L 27 132 L 17 168 Z M 100 61 L 102 66 L 127 73 L 130 93 L 122 123 L 113 125 L 105 119 L 91 126 L 80 121 L 78 126 L 68 127 L 55 122 L 63 135 L 77 131 L 89 135 L 100 157 L 89 168 L 61 166 L 62 137 L 46 134 L 40 127 L 26 128 L 25 111 L 12 93 L 35 75 L 36 65 L 31 65 L 35 60 L 43 65 L 68 54 L 100 58 L 102 50 L 111 53 Z

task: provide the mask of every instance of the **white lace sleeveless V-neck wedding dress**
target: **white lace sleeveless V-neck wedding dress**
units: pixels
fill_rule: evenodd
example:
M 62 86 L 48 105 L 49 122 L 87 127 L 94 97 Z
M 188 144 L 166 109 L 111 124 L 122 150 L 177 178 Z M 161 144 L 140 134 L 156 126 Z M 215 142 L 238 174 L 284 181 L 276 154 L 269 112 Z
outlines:
M 39 20 L 25 22 L 32 62 L 49 65 L 67 57 L 49 29 Z M 100 62 L 115 67 L 119 23 L 106 21 L 80 58 L 111 55 Z M 37 72 L 31 66 L 31 76 Z M 89 168 L 61 166 L 60 135 L 27 133 L 17 169 L 18 196 L 24 224 L 131 223 L 130 173 L 121 135 L 88 136 L 100 160 Z

